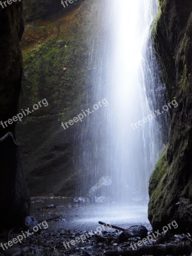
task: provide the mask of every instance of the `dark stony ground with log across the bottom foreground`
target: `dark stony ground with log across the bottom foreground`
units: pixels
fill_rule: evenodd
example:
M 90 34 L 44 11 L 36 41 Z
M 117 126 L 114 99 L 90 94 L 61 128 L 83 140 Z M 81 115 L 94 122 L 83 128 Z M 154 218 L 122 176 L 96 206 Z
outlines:
M 10 236 L 9 239 L 17 237 L 21 233 L 21 229 L 15 230 Z M 94 231 L 90 233 L 87 231 L 89 238 L 84 242 L 75 244 L 74 246 L 70 245 L 70 248 L 65 248 L 63 245 L 64 241 L 74 240 L 81 235 L 84 235 L 86 232 L 81 232 L 78 230 L 63 230 L 59 229 L 55 232 L 50 232 L 49 230 L 43 230 L 40 234 L 33 234 L 32 236 L 24 239 L 21 244 L 15 244 L 11 249 L 1 251 L 2 255 L 6 256 L 103 256 L 103 255 L 151 255 L 150 252 L 156 251 L 154 256 L 157 255 L 190 255 L 191 250 L 191 236 L 190 234 L 182 235 L 171 235 L 169 233 L 164 233 L 160 239 L 152 240 L 152 244 L 147 243 L 144 247 L 141 247 L 139 250 L 133 250 L 130 248 L 131 242 L 137 242 L 140 240 L 139 237 L 134 237 L 128 239 L 127 242 L 119 244 L 119 231 L 113 230 L 111 232 L 103 231 L 97 233 Z M 6 242 L 5 237 L 2 237 L 1 241 Z M 3 239 L 2 239 L 3 238 Z M 161 245 L 163 244 L 163 245 Z M 66 244 L 67 247 L 67 244 Z M 166 254 L 171 250 L 174 252 L 174 247 L 177 250 L 174 254 Z M 169 247 L 169 248 L 168 248 Z M 170 249 L 172 248 L 172 249 Z M 178 248 L 181 248 L 180 250 Z M 185 249 L 184 249 L 185 248 Z M 148 254 L 143 254 L 142 249 L 147 249 Z M 159 252 L 158 250 L 159 249 Z M 175 254 L 176 253 L 176 254 Z

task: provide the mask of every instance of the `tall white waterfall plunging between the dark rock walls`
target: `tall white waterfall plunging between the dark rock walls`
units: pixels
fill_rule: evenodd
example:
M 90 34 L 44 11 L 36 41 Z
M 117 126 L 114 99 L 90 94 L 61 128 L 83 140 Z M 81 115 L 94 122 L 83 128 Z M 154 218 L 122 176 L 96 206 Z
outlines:
M 164 87 L 148 38 L 158 2 L 98 4 L 103 41 L 99 45 L 96 38 L 90 49 L 87 108 L 93 110 L 98 102 L 102 106 L 76 135 L 81 140 L 75 163 L 81 174 L 77 195 L 96 202 L 141 204 L 147 202 L 148 180 L 163 149 L 163 128 L 154 111 L 165 104 Z

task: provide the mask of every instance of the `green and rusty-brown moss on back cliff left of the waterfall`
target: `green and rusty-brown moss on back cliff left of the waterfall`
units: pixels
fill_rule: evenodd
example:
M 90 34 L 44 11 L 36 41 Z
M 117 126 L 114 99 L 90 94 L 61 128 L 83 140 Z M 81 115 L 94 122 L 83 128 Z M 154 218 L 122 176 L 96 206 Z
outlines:
M 93 2 L 93 9 L 94 5 L 98 8 L 98 4 Z M 23 51 L 23 88 L 27 105 L 46 97 L 49 102 L 47 111 L 50 115 L 58 115 L 62 122 L 81 113 L 82 108 L 87 109 L 84 102 L 85 88 L 91 77 L 88 71 L 89 52 L 95 35 L 98 35 L 98 25 L 93 27 L 93 22 L 87 23 L 87 20 L 93 20 L 88 4 L 87 8 L 88 11 L 84 8 L 86 11 L 80 14 L 79 7 L 46 26 L 41 21 L 39 26 L 28 26 L 30 36 L 39 38 L 43 31 L 46 39 L 38 40 L 39 44 L 28 45 Z M 84 40 L 87 37 L 90 41 Z M 95 52 L 93 54 L 96 55 Z

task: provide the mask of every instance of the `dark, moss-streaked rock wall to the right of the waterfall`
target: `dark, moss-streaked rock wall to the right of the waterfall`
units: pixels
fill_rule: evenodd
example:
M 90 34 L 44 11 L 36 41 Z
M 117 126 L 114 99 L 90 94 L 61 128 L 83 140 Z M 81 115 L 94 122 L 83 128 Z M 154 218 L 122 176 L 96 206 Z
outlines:
M 192 2 L 161 0 L 151 38 L 171 114 L 169 142 L 149 183 L 148 218 L 156 230 L 176 220 L 192 230 Z

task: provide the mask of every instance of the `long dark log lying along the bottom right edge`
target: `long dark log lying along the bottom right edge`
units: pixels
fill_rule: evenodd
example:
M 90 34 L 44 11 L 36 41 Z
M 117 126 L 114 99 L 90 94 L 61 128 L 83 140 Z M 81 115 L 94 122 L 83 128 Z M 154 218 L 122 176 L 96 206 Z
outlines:
M 166 255 L 190 255 L 192 252 L 192 244 L 159 244 L 143 246 L 138 250 L 125 250 L 125 251 L 106 251 L 106 256 L 143 256 L 143 255 L 155 255 L 155 256 L 166 256 Z

